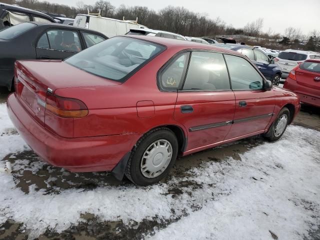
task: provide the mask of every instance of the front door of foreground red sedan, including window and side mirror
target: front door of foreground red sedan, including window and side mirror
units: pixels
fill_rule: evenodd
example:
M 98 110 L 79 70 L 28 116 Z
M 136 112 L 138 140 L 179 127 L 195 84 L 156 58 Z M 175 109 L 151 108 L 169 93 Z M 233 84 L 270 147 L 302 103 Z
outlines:
M 272 90 L 263 89 L 263 78 L 243 57 L 224 55 L 235 95 L 235 114 L 225 140 L 261 133 L 274 111 Z

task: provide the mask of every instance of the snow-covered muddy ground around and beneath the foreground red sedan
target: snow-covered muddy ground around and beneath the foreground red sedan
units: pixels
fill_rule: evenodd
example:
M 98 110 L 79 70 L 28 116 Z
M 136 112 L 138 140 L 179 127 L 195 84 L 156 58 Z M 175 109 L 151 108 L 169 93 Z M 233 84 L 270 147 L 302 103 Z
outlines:
M 280 140 L 260 136 L 181 157 L 148 186 L 46 165 L 0 94 L 0 239 L 320 239 L 320 110 Z

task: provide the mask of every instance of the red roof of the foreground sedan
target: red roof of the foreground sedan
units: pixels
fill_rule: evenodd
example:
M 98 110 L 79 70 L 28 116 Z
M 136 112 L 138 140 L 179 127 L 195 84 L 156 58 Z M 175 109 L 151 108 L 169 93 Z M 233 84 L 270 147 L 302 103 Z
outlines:
M 203 44 L 203 43 L 198 43 L 194 41 L 177 41 L 176 39 L 171 39 L 171 38 L 145 36 L 145 35 L 122 35 L 122 36 L 154 42 L 160 45 L 164 45 L 167 48 L 178 48 L 181 50 L 182 49 L 204 49 L 204 50 L 213 50 L 213 51 L 218 51 L 223 53 L 230 53 L 232 55 L 241 55 L 240 53 L 237 53 L 235 51 L 214 46 L 214 44 Z

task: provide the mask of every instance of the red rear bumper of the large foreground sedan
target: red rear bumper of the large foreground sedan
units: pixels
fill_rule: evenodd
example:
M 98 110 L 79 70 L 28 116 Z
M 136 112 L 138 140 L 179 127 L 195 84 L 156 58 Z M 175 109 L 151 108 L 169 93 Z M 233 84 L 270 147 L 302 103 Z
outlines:
M 131 151 L 141 134 L 65 138 L 43 126 L 24 109 L 14 93 L 8 96 L 8 114 L 32 150 L 46 162 L 74 172 L 110 171 Z

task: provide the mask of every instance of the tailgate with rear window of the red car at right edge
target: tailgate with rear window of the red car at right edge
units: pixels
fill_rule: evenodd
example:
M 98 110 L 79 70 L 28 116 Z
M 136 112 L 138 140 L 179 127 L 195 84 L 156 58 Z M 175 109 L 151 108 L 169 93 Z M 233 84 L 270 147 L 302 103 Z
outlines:
M 296 82 L 320 90 L 320 60 L 306 60 L 295 70 Z

